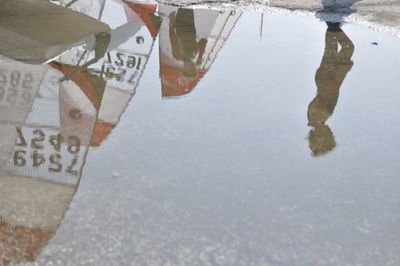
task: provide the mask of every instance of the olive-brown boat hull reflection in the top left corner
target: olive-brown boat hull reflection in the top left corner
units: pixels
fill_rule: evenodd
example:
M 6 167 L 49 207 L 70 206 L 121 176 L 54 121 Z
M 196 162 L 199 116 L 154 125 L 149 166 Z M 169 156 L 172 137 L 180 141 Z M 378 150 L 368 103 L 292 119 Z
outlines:
M 109 30 L 100 21 L 49 1 L 0 2 L 0 54 L 22 62 L 44 63 Z

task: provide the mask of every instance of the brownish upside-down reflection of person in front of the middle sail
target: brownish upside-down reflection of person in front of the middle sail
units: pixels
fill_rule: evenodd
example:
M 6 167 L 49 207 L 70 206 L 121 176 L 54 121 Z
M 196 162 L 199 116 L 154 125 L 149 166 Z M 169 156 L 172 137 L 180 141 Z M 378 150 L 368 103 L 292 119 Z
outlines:
M 189 80 L 194 79 L 197 76 L 196 66 L 201 64 L 207 39 L 196 40 L 192 9 L 179 8 L 176 14 L 171 13 L 169 37 L 173 57 L 183 61 L 183 77 Z

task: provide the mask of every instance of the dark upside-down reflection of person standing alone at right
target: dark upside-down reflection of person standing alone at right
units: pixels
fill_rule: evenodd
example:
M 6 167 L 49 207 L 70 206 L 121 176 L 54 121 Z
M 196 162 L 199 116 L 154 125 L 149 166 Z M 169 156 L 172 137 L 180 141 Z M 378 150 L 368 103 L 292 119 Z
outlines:
M 317 96 L 308 106 L 309 147 L 313 156 L 320 156 L 333 150 L 335 137 L 325 124 L 335 110 L 339 89 L 352 68 L 354 52 L 352 41 L 340 28 L 340 23 L 327 22 L 325 52 L 315 75 Z M 339 48 L 340 45 L 340 48 Z

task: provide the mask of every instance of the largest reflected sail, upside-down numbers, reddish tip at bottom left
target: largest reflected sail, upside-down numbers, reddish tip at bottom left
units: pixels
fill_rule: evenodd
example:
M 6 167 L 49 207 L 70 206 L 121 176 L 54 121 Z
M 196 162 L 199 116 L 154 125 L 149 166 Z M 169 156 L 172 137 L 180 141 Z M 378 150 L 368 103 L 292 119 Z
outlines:
M 1 58 L 0 75 L 0 262 L 16 263 L 34 259 L 61 222 L 95 113 L 78 90 L 59 87 L 62 75 L 47 65 Z M 66 130 L 68 120 L 79 127 Z

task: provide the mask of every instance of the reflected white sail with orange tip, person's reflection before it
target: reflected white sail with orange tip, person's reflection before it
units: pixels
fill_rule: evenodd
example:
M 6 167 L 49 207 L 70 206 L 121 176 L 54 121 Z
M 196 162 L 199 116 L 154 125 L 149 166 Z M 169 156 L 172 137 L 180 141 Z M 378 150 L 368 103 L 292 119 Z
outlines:
M 162 97 L 190 93 L 210 69 L 241 12 L 160 6 Z

